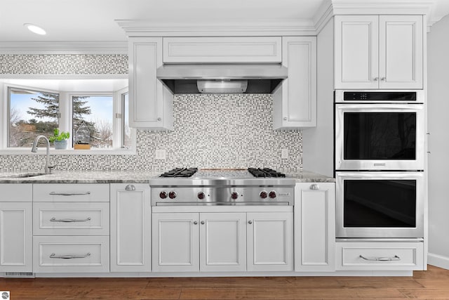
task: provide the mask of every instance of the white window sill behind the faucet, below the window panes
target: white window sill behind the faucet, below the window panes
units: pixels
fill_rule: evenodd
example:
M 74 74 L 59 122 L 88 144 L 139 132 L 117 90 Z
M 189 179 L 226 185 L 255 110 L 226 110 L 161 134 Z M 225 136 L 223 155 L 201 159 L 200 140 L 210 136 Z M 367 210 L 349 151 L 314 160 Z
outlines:
M 31 148 L 6 148 L 0 150 L 0 155 L 36 155 L 46 154 L 46 148 L 40 147 L 36 153 L 31 152 Z M 133 149 L 91 149 L 91 150 L 74 150 L 73 148 L 65 150 L 55 150 L 50 148 L 50 155 L 135 155 Z

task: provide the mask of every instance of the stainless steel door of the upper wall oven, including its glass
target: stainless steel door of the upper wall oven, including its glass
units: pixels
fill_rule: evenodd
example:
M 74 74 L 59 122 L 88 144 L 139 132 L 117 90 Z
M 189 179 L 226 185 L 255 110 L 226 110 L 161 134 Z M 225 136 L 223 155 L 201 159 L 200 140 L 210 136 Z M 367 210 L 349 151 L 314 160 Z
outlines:
M 424 169 L 422 104 L 335 104 L 335 169 Z

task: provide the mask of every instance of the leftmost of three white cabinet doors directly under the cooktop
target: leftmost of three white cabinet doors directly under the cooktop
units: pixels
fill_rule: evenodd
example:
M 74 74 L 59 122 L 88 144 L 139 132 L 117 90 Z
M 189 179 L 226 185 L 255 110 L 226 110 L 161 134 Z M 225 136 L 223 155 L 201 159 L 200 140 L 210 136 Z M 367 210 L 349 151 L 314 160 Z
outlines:
M 199 271 L 199 214 L 156 213 L 152 220 L 153 270 Z

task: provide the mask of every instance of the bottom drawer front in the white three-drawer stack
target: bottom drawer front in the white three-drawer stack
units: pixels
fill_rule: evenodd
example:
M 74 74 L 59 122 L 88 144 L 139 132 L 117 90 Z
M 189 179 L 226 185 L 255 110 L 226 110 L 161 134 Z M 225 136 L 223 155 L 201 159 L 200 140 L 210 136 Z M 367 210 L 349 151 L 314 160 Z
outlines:
M 33 270 L 109 272 L 109 237 L 33 237 Z

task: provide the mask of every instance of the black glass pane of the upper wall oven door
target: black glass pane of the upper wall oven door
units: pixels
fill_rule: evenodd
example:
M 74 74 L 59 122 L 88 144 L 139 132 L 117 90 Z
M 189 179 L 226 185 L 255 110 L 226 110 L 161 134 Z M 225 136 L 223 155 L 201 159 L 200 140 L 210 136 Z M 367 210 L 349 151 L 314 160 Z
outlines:
M 344 112 L 344 159 L 415 159 L 416 112 Z

